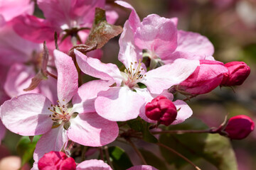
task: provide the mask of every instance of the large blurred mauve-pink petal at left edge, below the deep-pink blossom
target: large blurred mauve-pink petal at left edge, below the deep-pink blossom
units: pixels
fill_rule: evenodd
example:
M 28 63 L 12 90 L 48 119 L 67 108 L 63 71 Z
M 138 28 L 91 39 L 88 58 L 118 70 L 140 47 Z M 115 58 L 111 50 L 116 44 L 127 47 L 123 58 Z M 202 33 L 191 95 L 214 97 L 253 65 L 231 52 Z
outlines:
M 40 50 L 41 45 L 18 36 L 10 24 L 0 28 L 1 64 L 10 65 L 14 62 L 27 62 L 31 60 L 33 52 L 39 52 Z

